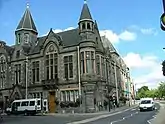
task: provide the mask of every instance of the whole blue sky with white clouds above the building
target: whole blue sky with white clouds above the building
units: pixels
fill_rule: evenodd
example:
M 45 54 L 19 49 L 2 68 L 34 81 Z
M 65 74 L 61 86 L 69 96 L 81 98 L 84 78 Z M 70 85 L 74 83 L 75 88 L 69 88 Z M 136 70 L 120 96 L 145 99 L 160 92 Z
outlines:
M 49 2 L 48 2 L 49 1 Z M 39 36 L 78 26 L 83 0 L 28 0 Z M 15 43 L 14 31 L 27 0 L 0 0 L 0 40 Z M 136 88 L 164 81 L 165 32 L 160 29 L 162 0 L 87 0 L 101 35 L 115 46 L 131 70 Z

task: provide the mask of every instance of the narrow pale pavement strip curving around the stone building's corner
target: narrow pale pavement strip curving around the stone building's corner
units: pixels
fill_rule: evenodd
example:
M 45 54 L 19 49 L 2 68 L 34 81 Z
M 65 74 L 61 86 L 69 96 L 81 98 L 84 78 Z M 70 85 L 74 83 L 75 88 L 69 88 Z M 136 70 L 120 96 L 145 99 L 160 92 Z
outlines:
M 106 114 L 110 114 L 110 113 L 115 113 L 115 112 L 119 112 L 119 111 L 123 111 L 125 109 L 128 108 L 134 108 L 137 105 L 132 105 L 132 106 L 123 106 L 120 108 L 116 108 L 111 109 L 111 111 L 100 111 L 100 112 L 96 112 L 96 113 L 65 113 L 65 114 L 61 114 L 61 113 L 46 113 L 44 115 L 51 115 L 51 116 L 99 116 L 99 115 L 106 115 Z

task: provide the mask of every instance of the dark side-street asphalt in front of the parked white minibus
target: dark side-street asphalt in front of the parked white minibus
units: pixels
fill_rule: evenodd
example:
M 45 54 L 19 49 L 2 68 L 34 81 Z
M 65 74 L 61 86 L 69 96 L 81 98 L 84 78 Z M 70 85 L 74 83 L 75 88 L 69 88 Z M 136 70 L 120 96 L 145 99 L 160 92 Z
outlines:
M 80 121 L 94 116 L 4 116 L 0 124 L 67 124 L 73 121 Z

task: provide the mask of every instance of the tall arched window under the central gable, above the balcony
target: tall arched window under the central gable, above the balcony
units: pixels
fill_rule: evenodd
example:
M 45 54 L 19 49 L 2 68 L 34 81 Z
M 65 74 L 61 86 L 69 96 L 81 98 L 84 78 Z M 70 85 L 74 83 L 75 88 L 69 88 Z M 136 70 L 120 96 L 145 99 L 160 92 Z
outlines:
M 48 47 L 45 56 L 46 79 L 58 78 L 58 53 L 54 45 Z

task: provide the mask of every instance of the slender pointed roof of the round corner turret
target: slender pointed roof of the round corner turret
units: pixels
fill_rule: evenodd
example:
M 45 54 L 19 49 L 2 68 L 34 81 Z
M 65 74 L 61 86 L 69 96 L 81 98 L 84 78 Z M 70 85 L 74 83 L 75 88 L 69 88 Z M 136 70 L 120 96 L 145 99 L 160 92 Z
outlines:
M 79 20 L 81 21 L 81 20 L 85 20 L 85 19 L 92 20 L 91 13 L 90 13 L 88 5 L 87 5 L 87 0 L 84 0 L 84 5 L 82 8 L 81 16 L 80 16 Z

